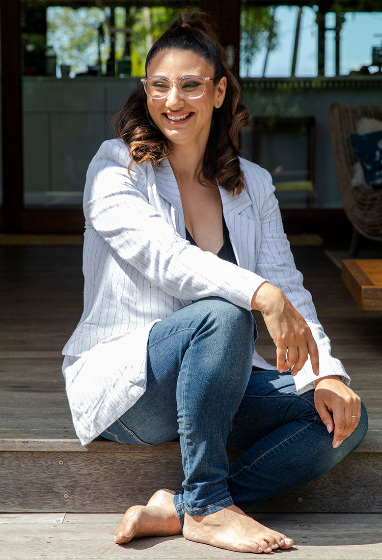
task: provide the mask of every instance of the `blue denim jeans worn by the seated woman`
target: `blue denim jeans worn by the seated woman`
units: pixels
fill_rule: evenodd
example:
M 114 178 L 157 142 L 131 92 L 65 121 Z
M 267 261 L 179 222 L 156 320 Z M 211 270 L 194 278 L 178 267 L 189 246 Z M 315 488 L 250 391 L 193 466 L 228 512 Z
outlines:
M 252 366 L 250 311 L 220 297 L 192 302 L 156 323 L 148 340 L 147 389 L 101 436 L 152 445 L 179 436 L 184 514 L 206 515 L 286 492 L 319 477 L 362 441 L 367 414 L 333 449 L 313 400 L 292 376 Z M 244 454 L 229 464 L 226 446 Z

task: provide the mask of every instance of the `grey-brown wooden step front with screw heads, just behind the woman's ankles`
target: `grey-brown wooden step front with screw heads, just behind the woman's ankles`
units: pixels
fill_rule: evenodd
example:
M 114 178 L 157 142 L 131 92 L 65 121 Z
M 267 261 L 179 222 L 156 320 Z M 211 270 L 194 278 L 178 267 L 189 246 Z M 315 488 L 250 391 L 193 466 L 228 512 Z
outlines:
M 179 442 L 150 447 L 78 440 L 0 441 L 0 511 L 114 512 L 181 488 Z M 229 450 L 230 460 L 240 453 Z M 381 512 L 382 444 L 366 437 L 330 472 L 251 512 Z

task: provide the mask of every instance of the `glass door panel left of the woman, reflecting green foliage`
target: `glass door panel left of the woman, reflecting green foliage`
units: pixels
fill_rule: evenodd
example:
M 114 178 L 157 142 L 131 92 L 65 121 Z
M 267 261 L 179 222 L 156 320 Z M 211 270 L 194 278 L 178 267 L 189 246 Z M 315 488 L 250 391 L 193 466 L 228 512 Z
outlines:
M 22 1 L 26 207 L 81 206 L 87 166 L 114 136 L 111 116 L 182 7 L 53 4 Z

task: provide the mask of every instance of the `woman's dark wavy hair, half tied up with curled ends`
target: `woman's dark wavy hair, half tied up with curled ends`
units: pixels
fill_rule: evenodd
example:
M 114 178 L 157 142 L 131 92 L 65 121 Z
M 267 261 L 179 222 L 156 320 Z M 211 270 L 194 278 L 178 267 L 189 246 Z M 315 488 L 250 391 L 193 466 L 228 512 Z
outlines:
M 239 163 L 239 132 L 248 124 L 248 109 L 240 102 L 240 86 L 226 62 L 226 52 L 220 44 L 207 14 L 184 10 L 180 17 L 152 45 L 146 58 L 147 66 L 156 54 L 166 49 L 191 50 L 214 68 L 214 85 L 223 76 L 227 78 L 226 95 L 221 108 L 213 108 L 212 127 L 199 180 L 202 184 L 218 183 L 232 194 L 244 189 L 244 178 Z M 128 146 L 133 162 L 150 161 L 158 165 L 169 156 L 167 138 L 153 122 L 147 108 L 147 97 L 142 83 L 132 91 L 123 107 L 114 115 L 116 136 Z

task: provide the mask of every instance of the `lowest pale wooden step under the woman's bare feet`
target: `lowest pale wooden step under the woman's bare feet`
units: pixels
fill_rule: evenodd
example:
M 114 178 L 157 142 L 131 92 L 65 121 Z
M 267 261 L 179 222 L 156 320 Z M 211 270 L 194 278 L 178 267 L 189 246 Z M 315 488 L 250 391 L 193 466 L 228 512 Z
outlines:
M 381 514 L 259 514 L 264 525 L 294 539 L 288 560 L 380 560 Z M 119 546 L 119 514 L 0 515 L 2 560 L 253 560 L 186 540 L 183 535 L 145 537 Z M 273 556 L 273 555 L 272 555 Z

